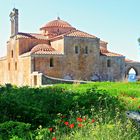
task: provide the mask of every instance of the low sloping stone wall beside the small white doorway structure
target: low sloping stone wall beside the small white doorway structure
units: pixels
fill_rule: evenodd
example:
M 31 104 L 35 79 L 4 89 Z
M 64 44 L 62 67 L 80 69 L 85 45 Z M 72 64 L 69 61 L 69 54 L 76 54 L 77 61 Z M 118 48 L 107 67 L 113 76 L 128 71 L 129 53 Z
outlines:
M 54 77 L 49 77 L 46 75 L 42 75 L 42 85 L 48 85 L 48 84 L 60 84 L 60 83 L 80 83 L 80 84 L 86 84 L 89 83 L 88 81 L 78 81 L 78 80 L 65 80 L 65 79 L 59 79 Z

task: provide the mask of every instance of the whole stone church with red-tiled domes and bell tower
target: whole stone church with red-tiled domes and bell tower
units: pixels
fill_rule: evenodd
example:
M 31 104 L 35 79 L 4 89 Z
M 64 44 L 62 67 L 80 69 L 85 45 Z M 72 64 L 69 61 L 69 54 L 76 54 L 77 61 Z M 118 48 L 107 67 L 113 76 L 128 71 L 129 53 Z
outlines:
M 0 58 L 0 84 L 43 85 L 55 82 L 122 81 L 140 63 L 107 48 L 107 42 L 80 31 L 59 17 L 40 33 L 18 30 L 18 10 L 10 13 L 7 55 Z

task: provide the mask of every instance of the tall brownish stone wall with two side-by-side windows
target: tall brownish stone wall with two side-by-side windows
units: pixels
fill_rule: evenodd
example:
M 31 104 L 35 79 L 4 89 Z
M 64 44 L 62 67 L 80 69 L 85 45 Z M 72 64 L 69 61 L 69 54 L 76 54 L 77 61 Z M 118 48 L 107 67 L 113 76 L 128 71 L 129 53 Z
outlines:
M 65 61 L 63 76 L 69 75 L 76 80 L 90 80 L 94 72 L 99 71 L 99 39 L 64 37 Z M 75 53 L 75 46 L 79 52 Z M 88 47 L 88 54 L 85 47 Z

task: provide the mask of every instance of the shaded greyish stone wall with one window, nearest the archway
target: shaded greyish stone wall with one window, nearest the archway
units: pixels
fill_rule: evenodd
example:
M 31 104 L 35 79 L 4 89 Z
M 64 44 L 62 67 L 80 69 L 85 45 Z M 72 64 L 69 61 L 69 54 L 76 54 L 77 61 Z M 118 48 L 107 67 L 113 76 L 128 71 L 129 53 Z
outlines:
M 125 75 L 124 57 L 100 56 L 100 79 L 101 81 L 122 81 Z M 107 61 L 110 60 L 110 67 Z

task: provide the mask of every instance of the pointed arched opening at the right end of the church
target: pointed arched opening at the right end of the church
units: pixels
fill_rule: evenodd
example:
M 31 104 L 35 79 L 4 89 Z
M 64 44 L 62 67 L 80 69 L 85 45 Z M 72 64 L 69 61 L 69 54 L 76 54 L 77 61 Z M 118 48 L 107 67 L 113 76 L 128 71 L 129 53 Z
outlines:
M 129 82 L 136 82 L 137 78 L 136 76 L 138 75 L 137 70 L 133 67 L 130 67 L 127 71 L 127 77 Z

